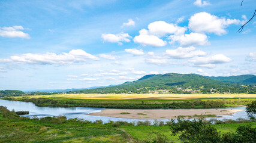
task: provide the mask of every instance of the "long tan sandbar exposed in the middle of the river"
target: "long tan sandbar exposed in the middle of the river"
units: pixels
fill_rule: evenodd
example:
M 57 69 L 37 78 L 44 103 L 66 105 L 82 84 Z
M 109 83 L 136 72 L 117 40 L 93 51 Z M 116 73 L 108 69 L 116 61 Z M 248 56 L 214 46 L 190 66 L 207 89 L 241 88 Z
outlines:
M 238 109 L 175 109 L 175 110 L 132 110 L 132 109 L 105 109 L 99 113 L 91 113 L 94 116 L 108 116 L 127 119 L 177 119 L 177 116 L 194 116 L 215 114 L 230 115 L 236 113 Z M 130 114 L 121 114 L 130 113 Z M 188 117 L 186 117 L 188 118 Z

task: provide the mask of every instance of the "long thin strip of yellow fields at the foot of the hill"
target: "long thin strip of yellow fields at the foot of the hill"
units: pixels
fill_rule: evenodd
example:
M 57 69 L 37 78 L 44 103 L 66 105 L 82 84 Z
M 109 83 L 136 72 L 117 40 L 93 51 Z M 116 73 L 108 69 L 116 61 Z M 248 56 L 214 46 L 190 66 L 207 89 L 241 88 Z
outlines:
M 256 98 L 256 94 L 55 94 L 30 98 L 69 98 L 91 100 L 192 100 L 197 98 Z

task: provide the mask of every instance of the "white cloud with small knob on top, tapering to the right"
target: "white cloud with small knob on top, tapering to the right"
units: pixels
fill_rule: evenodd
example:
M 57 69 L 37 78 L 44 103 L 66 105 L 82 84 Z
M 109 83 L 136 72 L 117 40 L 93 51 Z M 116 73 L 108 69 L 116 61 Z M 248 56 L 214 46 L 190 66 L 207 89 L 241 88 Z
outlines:
M 148 35 L 146 29 L 140 30 L 140 35 L 135 36 L 133 41 L 135 43 L 140 43 L 143 46 L 165 46 L 167 44 L 166 41 L 159 39 L 155 35 Z

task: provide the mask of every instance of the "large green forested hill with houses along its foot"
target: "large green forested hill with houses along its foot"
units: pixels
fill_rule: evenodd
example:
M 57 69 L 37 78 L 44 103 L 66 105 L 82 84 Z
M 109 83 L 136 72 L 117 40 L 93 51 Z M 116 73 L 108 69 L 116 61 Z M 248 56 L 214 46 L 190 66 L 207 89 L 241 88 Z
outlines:
M 243 76 L 242 76 L 243 77 Z M 252 76 L 239 77 L 240 81 L 252 79 Z M 220 80 L 221 78 L 219 78 Z M 229 80 L 235 79 L 231 77 Z M 238 80 L 237 79 L 237 80 Z M 229 81 L 227 80 L 227 81 Z M 235 80 L 235 81 L 237 81 Z M 231 80 L 234 81 L 234 80 Z M 254 80 L 251 81 L 255 82 Z M 256 93 L 255 85 L 242 85 L 240 83 L 222 82 L 209 77 L 197 74 L 150 74 L 141 77 L 134 82 L 125 82 L 122 85 L 107 88 L 86 89 L 78 93 L 176 93 L 191 94 L 195 93 Z

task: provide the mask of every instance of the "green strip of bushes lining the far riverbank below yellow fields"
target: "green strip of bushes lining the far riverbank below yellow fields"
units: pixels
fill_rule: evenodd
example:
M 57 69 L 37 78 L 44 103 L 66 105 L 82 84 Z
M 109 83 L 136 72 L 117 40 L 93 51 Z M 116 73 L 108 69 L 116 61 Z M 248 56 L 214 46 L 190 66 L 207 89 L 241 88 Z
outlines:
M 246 105 L 251 100 L 189 100 L 189 101 L 106 101 L 106 100 L 53 100 L 49 98 L 11 98 L 4 97 L 3 100 L 33 102 L 37 106 L 52 107 L 98 107 L 98 108 L 216 108 Z

